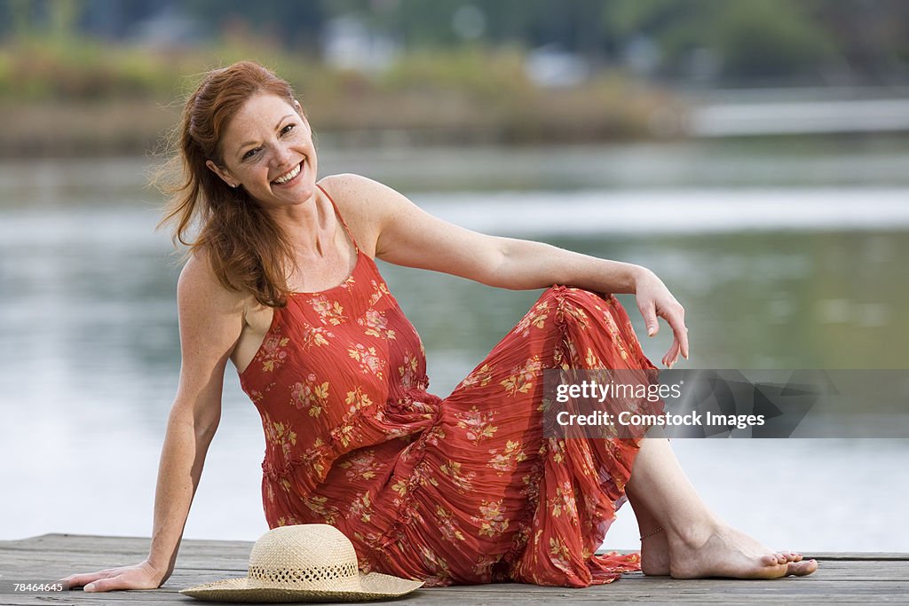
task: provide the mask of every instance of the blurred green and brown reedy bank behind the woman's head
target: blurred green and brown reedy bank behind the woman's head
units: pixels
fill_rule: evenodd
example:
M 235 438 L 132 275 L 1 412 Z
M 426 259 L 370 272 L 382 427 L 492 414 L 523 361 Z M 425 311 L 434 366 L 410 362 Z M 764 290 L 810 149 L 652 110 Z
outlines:
M 161 150 L 205 71 L 254 59 L 295 89 L 317 134 L 338 144 L 570 144 L 673 138 L 684 100 L 617 69 L 541 85 L 518 49 L 408 55 L 381 73 L 261 44 L 154 51 L 80 38 L 0 46 L 0 157 Z

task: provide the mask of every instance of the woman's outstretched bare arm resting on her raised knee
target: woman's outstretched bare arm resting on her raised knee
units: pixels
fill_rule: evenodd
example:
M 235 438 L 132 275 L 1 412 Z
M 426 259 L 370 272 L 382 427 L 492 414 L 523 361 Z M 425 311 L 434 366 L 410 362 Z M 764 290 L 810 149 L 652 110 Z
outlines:
M 673 344 L 663 363 L 672 366 L 680 353 L 688 357 L 684 309 L 650 270 L 546 243 L 472 232 L 426 213 L 404 195 L 365 177 L 335 179 L 368 205 L 376 229 L 375 256 L 383 261 L 513 290 L 564 284 L 596 293 L 634 293 L 648 335 L 659 330 L 658 317 L 673 329 Z

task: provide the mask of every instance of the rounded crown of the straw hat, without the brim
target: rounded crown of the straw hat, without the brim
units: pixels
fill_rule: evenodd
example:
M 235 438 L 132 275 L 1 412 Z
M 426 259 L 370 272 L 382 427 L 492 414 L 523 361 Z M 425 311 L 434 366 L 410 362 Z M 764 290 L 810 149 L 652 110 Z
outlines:
M 288 587 L 358 583 L 356 551 L 344 533 L 327 524 L 281 526 L 255 541 L 249 578 Z

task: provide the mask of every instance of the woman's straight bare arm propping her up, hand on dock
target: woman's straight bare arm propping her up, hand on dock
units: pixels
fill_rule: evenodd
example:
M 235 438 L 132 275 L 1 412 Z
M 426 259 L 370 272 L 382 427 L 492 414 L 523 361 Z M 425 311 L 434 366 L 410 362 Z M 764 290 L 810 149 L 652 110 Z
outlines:
M 243 329 L 244 298 L 227 291 L 204 257 L 186 263 L 177 284 L 182 363 L 158 466 L 152 543 L 133 566 L 74 574 L 85 591 L 155 589 L 174 571 L 205 453 L 221 417 L 225 366 Z

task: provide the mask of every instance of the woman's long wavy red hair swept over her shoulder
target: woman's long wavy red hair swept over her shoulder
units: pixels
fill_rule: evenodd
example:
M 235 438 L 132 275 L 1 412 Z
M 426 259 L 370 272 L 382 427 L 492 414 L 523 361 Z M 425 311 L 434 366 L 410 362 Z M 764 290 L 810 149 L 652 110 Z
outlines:
M 205 74 L 186 100 L 172 140 L 175 154 L 165 172 L 173 179 L 162 187 L 170 200 L 161 224 L 174 224 L 174 242 L 189 246 L 187 255 L 205 249 L 225 288 L 284 307 L 293 263 L 286 234 L 242 187 L 230 187 L 205 165 L 211 160 L 224 166 L 221 137 L 227 125 L 250 97 L 263 93 L 295 101 L 290 84 L 251 61 Z M 192 240 L 188 234 L 195 226 Z

